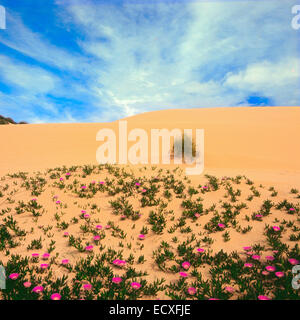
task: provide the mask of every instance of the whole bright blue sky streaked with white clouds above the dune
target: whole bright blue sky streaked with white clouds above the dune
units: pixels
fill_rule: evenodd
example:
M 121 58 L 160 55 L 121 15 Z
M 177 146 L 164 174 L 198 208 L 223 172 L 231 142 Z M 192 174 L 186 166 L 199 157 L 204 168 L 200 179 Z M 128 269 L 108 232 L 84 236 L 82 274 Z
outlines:
M 104 122 L 300 106 L 295 0 L 0 0 L 0 114 Z

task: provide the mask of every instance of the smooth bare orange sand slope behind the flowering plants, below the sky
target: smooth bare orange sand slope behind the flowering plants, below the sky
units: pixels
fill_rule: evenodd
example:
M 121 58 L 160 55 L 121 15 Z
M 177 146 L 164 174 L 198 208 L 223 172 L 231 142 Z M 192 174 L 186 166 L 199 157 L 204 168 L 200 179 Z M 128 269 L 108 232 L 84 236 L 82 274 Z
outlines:
M 205 129 L 206 171 L 250 174 L 263 182 L 279 184 L 300 181 L 299 107 L 163 110 L 126 120 L 128 131 Z M 0 126 L 0 175 L 96 164 L 101 143 L 95 137 L 101 128 L 113 128 L 118 135 L 118 122 Z

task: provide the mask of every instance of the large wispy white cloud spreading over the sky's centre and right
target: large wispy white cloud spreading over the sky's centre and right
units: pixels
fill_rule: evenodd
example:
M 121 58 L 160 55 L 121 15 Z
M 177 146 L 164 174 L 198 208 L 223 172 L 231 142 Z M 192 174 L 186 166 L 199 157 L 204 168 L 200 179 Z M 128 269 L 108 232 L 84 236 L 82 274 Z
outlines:
M 114 7 L 69 2 L 65 8 L 85 32 L 79 45 L 104 61 L 96 70 L 99 101 L 122 116 L 168 107 L 247 104 L 254 92 L 275 104 L 299 103 L 299 71 L 289 83 L 286 77 L 278 82 L 270 73 L 277 65 L 295 69 L 289 3 L 193 1 Z M 257 78 L 256 85 L 247 86 L 245 79 L 243 87 L 241 79 L 234 83 L 234 77 L 255 72 L 253 66 L 263 61 L 269 66 L 263 82 Z M 277 74 L 282 75 L 279 70 Z M 287 87 L 295 92 L 290 98 L 284 94 Z

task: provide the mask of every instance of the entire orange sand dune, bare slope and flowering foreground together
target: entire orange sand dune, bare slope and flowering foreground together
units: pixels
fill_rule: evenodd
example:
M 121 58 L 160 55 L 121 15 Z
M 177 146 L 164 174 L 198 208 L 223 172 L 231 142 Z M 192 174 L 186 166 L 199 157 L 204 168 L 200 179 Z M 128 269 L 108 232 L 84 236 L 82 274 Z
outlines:
M 118 121 L 0 126 L 0 176 L 29 172 L 0 183 L 0 265 L 10 273 L 0 300 L 299 299 L 291 268 L 300 260 L 300 108 L 165 110 L 126 120 L 128 131 L 204 129 L 203 174 L 187 178 L 174 164 L 70 168 L 97 164 L 96 134 L 117 135 Z M 50 270 L 50 284 L 36 277 Z M 41 285 L 43 293 L 32 292 Z

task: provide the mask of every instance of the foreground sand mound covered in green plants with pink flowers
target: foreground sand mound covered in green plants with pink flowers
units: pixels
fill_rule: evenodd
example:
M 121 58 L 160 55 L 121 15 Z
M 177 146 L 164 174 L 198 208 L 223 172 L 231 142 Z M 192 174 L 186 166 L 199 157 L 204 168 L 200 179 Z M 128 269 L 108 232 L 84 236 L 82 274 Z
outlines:
M 146 170 L 87 165 L 2 177 L 0 299 L 299 300 L 297 189 L 278 200 L 241 175 L 206 175 L 196 186 L 178 168 Z M 152 281 L 155 268 L 162 277 Z

